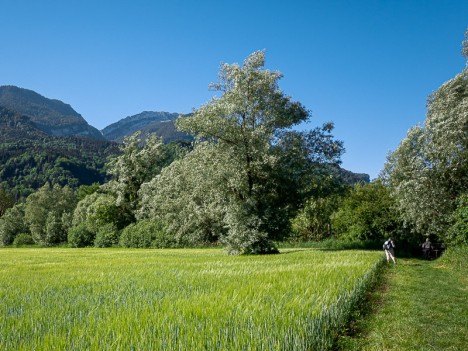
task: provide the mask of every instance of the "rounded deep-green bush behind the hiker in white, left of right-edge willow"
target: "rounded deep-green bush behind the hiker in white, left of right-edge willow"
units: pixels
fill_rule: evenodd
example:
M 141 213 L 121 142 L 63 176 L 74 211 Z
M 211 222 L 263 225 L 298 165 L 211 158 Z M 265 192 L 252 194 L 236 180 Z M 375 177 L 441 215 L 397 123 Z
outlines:
M 403 224 L 390 191 L 381 182 L 357 184 L 332 220 L 335 235 L 348 240 L 398 239 Z

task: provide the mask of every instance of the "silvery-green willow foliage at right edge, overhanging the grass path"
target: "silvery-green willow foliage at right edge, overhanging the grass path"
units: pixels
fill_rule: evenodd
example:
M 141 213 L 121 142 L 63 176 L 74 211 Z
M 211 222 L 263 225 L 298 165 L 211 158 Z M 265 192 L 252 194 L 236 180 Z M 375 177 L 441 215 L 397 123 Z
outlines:
M 444 238 L 457 198 L 468 192 L 468 69 L 429 97 L 424 126 L 389 156 L 383 177 L 403 219 L 419 234 Z

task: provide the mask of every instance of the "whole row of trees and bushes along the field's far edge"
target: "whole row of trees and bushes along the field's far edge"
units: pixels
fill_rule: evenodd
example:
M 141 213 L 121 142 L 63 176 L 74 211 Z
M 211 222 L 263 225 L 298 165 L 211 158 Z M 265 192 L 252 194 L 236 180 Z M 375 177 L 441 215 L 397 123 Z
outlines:
M 280 90 L 281 73 L 264 60 L 259 51 L 221 67 L 210 85 L 219 96 L 177 120 L 193 143 L 126 138 L 106 165 L 108 182 L 46 184 L 4 209 L 0 243 L 210 244 L 230 254 L 330 237 L 468 243 L 466 69 L 430 97 L 424 126 L 410 130 L 379 179 L 349 185 L 336 172 L 344 147 L 333 123 L 294 129 L 310 113 Z

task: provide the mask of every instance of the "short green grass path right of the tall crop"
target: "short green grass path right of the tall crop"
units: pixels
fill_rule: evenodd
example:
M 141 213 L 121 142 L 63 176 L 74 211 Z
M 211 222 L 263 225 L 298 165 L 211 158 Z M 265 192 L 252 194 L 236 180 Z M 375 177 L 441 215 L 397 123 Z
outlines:
M 341 350 L 466 350 L 468 249 L 448 250 L 436 261 L 400 259 L 358 321 L 357 335 Z

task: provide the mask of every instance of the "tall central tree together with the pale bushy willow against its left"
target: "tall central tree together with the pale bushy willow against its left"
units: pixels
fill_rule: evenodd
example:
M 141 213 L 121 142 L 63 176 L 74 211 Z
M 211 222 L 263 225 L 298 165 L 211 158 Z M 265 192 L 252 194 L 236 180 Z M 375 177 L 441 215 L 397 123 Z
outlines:
M 291 130 L 309 112 L 279 89 L 281 73 L 264 63 L 258 51 L 242 66 L 222 65 L 211 85 L 220 96 L 178 119 L 196 137 L 195 149 L 143 187 L 142 217 L 164 219 L 179 236 L 192 228 L 198 239 L 219 237 L 231 253 L 276 251 L 272 241 L 289 234 L 307 167 L 337 162 L 342 145 L 330 135 L 332 124 Z

